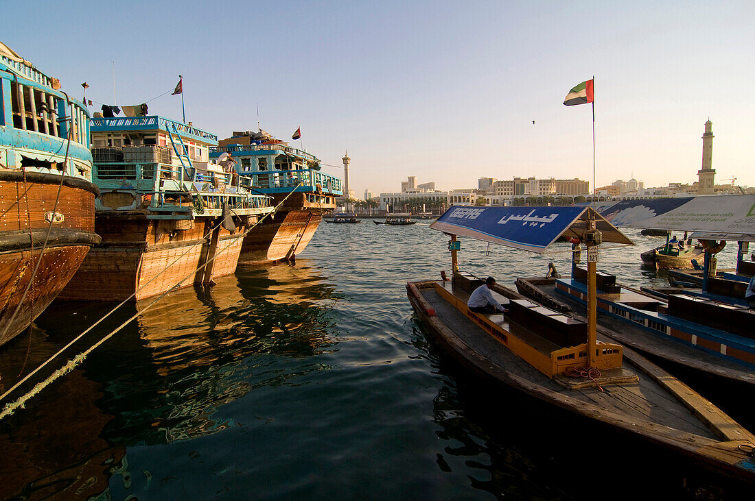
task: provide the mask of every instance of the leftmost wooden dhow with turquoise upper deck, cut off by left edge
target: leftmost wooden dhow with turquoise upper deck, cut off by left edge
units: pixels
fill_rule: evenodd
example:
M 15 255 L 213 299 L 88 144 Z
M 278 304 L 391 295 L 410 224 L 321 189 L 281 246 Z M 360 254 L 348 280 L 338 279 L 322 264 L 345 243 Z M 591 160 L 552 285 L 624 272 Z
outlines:
M 0 344 L 79 268 L 94 233 L 88 112 L 0 43 Z

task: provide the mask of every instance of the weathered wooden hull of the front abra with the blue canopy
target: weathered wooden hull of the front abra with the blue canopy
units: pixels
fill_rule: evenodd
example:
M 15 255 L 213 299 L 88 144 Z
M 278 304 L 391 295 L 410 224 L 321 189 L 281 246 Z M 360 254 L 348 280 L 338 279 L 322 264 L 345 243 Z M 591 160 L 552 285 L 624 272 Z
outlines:
M 470 371 L 504 383 L 551 405 L 614 426 L 621 432 L 670 448 L 719 472 L 737 478 L 747 478 L 749 481 L 755 480 L 753 457 L 740 449 L 742 446 L 749 451 L 751 444 L 755 444 L 755 437 L 684 383 L 643 357 L 630 350 L 624 350 L 625 361 L 641 374 L 641 380 L 645 380 L 646 384 L 656 391 L 665 393 L 667 398 L 670 397 L 669 406 L 675 406 L 677 411 L 692 409 L 689 417 L 700 417 L 701 422 L 711 426 L 711 429 L 715 428 L 715 435 L 719 436 L 713 436 L 713 432 L 709 432 L 707 436 L 699 435 L 693 431 L 677 429 L 654 421 L 651 417 L 658 409 L 653 409 L 652 406 L 647 417 L 621 414 L 618 408 L 612 408 L 608 404 L 610 399 L 621 400 L 618 393 L 599 394 L 595 389 L 595 393 L 589 395 L 590 399 L 584 399 L 587 393 L 583 392 L 589 392 L 589 389 L 564 391 L 549 377 L 534 371 L 513 353 L 507 352 L 505 347 L 501 348 L 495 339 L 491 341 L 492 337 L 475 323 L 470 321 L 461 330 L 459 325 L 452 327 L 452 314 L 446 310 L 439 312 L 439 309 L 444 307 L 443 304 L 437 301 L 431 303 L 428 301 L 429 296 L 421 292 L 421 287 L 425 284 L 427 283 L 407 284 L 411 306 L 427 326 L 430 335 Z M 627 389 L 622 387 L 618 391 L 621 393 Z M 645 392 L 652 393 L 652 390 L 640 391 L 639 395 Z M 638 393 L 635 391 L 632 395 L 636 396 Z M 594 400 L 590 401 L 591 399 Z M 680 421 L 680 426 L 686 427 L 689 424 Z

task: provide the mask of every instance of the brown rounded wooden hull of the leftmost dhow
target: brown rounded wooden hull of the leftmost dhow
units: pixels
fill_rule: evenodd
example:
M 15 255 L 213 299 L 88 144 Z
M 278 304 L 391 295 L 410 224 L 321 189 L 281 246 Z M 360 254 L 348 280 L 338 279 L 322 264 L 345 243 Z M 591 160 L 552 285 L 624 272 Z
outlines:
M 0 344 L 18 335 L 48 307 L 91 246 L 100 242 L 94 233 L 97 187 L 69 176 L 62 181 L 61 185 L 60 176 L 53 174 L 0 172 Z

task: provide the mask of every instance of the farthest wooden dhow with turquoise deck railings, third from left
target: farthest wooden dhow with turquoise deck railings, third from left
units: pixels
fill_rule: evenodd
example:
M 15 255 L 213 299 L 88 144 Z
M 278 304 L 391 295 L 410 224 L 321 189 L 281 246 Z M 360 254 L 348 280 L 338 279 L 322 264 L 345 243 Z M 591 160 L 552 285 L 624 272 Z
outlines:
M 244 239 L 239 261 L 269 264 L 291 261 L 304 251 L 322 221 L 323 212 L 335 209 L 335 197 L 343 194 L 341 179 L 320 172 L 320 160 L 307 151 L 259 133 L 233 133 L 211 148 L 211 158 L 223 153 L 236 160 L 242 185 L 267 194 L 277 205 L 273 218 Z

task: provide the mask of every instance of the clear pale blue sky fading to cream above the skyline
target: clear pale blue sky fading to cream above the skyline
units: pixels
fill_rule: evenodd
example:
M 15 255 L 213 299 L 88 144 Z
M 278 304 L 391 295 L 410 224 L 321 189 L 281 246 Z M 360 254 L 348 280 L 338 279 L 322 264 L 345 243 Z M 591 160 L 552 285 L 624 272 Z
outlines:
M 257 121 L 280 139 L 300 127 L 291 143 L 324 172 L 342 177 L 348 151 L 356 197 L 399 191 L 407 176 L 444 191 L 514 176 L 592 187 L 591 106 L 562 102 L 593 76 L 598 187 L 695 182 L 708 118 L 716 182 L 755 185 L 751 1 L 3 0 L 2 9 L 39 20 L 32 31 L 4 23 L 0 41 L 63 90 L 81 96 L 86 81 L 88 99 L 148 102 L 150 115 L 180 120 L 180 96 L 165 92 L 183 75 L 186 121 L 220 139 Z

